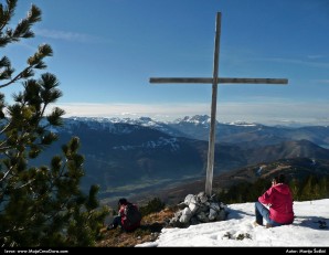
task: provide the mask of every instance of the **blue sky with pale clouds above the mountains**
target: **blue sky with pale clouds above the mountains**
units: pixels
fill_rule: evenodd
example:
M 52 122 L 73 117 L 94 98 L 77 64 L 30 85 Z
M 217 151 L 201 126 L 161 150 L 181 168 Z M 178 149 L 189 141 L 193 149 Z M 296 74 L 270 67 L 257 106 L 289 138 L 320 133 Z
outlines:
M 210 84 L 151 85 L 149 78 L 212 77 L 221 12 L 220 77 L 289 83 L 220 84 L 217 120 L 329 125 L 327 0 L 19 1 L 12 23 L 31 3 L 43 13 L 35 39 L 4 54 L 20 70 L 39 44 L 49 43 L 54 55 L 46 71 L 61 82 L 57 105 L 67 117 L 210 115 Z

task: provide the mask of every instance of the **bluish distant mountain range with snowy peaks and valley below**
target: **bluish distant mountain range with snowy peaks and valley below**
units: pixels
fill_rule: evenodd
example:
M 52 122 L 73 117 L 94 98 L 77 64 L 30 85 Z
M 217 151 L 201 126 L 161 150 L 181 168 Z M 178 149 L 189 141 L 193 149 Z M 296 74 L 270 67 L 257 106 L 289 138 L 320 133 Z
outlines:
M 85 156 L 83 189 L 100 185 L 100 199 L 150 192 L 204 178 L 210 117 L 171 123 L 148 117 L 67 118 L 56 129 L 60 140 L 36 163 L 47 163 L 72 136 Z M 329 160 L 329 127 L 268 127 L 259 124 L 216 125 L 214 174 L 279 159 Z

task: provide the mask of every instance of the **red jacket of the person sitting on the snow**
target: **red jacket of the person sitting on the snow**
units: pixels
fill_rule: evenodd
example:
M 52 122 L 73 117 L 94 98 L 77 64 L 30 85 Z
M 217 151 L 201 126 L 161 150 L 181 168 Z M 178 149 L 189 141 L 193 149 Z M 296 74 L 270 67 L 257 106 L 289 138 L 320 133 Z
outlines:
M 294 222 L 293 195 L 287 184 L 277 183 L 258 198 L 263 204 L 269 205 L 269 219 L 280 223 Z

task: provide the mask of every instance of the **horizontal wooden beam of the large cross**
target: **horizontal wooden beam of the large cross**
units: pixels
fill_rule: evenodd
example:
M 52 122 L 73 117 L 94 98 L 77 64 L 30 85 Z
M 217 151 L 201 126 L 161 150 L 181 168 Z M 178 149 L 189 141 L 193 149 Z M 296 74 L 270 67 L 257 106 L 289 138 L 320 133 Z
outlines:
M 202 78 L 202 77 L 194 77 L 194 78 L 176 78 L 176 77 L 168 77 L 168 78 L 150 78 L 150 83 L 213 83 L 213 78 Z M 217 78 L 217 83 L 222 84 L 280 84 L 286 85 L 288 84 L 287 78 Z

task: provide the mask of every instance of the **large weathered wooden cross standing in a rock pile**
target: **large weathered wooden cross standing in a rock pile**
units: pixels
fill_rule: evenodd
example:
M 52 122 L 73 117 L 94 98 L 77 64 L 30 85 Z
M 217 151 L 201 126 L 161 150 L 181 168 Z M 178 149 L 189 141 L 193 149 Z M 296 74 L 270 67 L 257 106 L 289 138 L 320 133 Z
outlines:
M 216 102 L 217 102 L 217 84 L 288 84 L 287 78 L 221 78 L 219 77 L 219 59 L 220 59 L 220 35 L 221 35 L 221 12 L 216 14 L 215 45 L 214 45 L 214 64 L 212 78 L 202 77 L 171 77 L 158 78 L 151 77 L 150 83 L 205 83 L 212 84 L 212 102 L 211 102 L 211 123 L 208 149 L 208 166 L 205 179 L 205 193 L 211 196 L 213 166 L 214 166 L 214 147 L 215 147 L 215 123 L 216 123 Z

